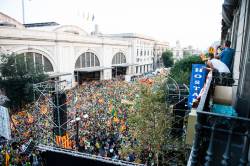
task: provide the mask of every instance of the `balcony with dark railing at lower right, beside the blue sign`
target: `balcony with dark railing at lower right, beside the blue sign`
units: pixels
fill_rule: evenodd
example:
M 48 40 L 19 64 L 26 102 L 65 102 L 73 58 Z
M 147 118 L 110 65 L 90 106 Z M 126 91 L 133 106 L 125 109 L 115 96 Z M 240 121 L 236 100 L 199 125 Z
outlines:
M 195 135 L 188 165 L 240 165 L 249 164 L 250 119 L 238 117 L 237 110 L 222 105 L 222 111 L 214 106 L 216 88 L 229 88 L 233 80 L 227 75 L 209 73 L 206 85 L 196 109 Z M 221 93 L 220 95 L 225 94 Z M 223 96 L 223 95 L 222 95 Z M 223 98 L 222 98 L 223 99 Z M 225 106 L 225 107 L 224 107 Z

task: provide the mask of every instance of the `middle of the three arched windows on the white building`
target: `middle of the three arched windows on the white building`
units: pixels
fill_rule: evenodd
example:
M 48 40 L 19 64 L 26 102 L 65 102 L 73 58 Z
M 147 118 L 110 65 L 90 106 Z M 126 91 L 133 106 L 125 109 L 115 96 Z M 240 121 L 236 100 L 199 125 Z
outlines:
M 95 66 L 100 66 L 100 62 L 97 56 L 92 52 L 85 52 L 80 55 L 75 64 L 76 69 Z

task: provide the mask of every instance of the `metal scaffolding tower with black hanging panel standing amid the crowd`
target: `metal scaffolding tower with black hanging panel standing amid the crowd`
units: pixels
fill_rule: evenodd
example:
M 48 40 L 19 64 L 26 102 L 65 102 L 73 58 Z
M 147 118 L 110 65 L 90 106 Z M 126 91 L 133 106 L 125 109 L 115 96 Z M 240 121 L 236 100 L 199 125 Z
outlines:
M 55 128 L 58 129 L 60 136 L 62 135 L 62 131 L 66 131 L 69 139 L 74 136 L 75 127 L 72 123 L 74 121 L 74 116 L 69 116 L 66 122 L 61 122 L 60 118 L 61 114 L 67 115 L 68 112 L 68 109 L 62 109 L 63 106 L 67 105 L 67 107 L 73 108 L 73 104 L 75 104 L 74 91 L 67 91 L 66 87 L 66 80 L 49 80 L 33 84 L 35 104 L 32 117 L 35 122 L 34 128 L 36 131 L 33 131 L 33 136 L 36 143 L 58 146 L 56 135 L 54 133 Z M 65 103 L 59 104 L 59 95 L 62 93 L 66 93 L 67 100 Z M 57 118 L 57 123 L 55 123 L 55 118 Z

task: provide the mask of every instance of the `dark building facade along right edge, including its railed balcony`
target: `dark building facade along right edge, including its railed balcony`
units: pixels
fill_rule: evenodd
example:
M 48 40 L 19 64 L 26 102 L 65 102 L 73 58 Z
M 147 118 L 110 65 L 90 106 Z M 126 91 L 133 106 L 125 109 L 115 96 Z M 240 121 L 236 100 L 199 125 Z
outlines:
M 195 136 L 187 165 L 249 165 L 250 130 L 250 1 L 225 0 L 222 4 L 221 44 L 231 41 L 235 49 L 232 78 L 212 77 L 211 93 L 202 94 L 204 104 L 196 111 Z M 215 81 L 217 80 L 217 81 Z M 228 81 L 232 81 L 229 83 Z M 223 85 L 225 84 L 226 85 Z M 229 84 L 228 84 L 229 83 Z M 221 85 L 222 84 L 222 85 Z M 231 84 L 231 85 L 230 85 Z M 225 88 L 217 96 L 215 88 Z M 229 93 L 228 93 L 229 92 Z M 229 114 L 212 111 L 211 103 L 220 97 L 222 106 L 233 108 Z M 229 103 L 225 101 L 230 99 Z M 218 101 L 217 101 L 218 102 Z M 218 103 L 217 103 L 218 104 Z M 223 111 L 223 113 L 222 113 Z M 190 116 L 190 115 L 189 115 Z

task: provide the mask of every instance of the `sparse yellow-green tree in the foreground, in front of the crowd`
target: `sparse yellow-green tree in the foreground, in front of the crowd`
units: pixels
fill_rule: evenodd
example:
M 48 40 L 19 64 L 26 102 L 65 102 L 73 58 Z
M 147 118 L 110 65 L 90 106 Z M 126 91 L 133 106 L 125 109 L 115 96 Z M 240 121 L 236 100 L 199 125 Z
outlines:
M 123 151 L 135 152 L 141 156 L 141 163 L 147 165 L 168 165 L 171 158 L 178 157 L 173 156 L 173 152 L 185 153 L 182 141 L 170 134 L 173 116 L 165 102 L 164 87 L 165 81 L 162 78 L 152 86 L 141 85 L 140 97 L 136 101 L 139 105 L 135 112 L 128 115 L 129 133 L 138 144 L 133 149 L 124 147 Z

